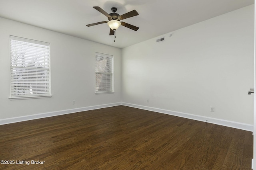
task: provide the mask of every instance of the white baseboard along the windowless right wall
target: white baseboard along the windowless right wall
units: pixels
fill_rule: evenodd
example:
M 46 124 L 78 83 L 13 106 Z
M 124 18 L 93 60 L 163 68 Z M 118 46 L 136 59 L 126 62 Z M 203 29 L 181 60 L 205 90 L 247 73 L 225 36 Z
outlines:
M 182 113 L 182 112 L 178 112 L 178 111 L 171 111 L 171 110 L 166 110 L 166 109 L 159 109 L 159 108 L 155 108 L 155 107 L 141 106 L 141 105 L 130 104 L 130 103 L 122 102 L 122 105 L 129 106 L 129 107 L 135 107 L 138 109 L 155 111 L 158 113 L 164 113 L 164 114 L 168 114 L 168 115 L 174 115 L 174 116 L 178 116 L 178 117 L 184 117 L 184 118 L 193 119 L 193 120 L 197 120 L 197 121 L 204 121 L 204 122 L 213 123 L 216 125 L 233 127 L 236 129 L 242 129 L 242 130 L 253 132 L 253 125 L 250 125 L 250 124 L 239 123 L 239 122 L 234 122 L 234 121 L 227 121 L 227 120 L 222 120 L 222 119 L 215 119 L 215 118 L 211 118 L 211 117 L 204 117 L 204 116 L 193 115 L 193 114 L 189 114 L 189 113 Z

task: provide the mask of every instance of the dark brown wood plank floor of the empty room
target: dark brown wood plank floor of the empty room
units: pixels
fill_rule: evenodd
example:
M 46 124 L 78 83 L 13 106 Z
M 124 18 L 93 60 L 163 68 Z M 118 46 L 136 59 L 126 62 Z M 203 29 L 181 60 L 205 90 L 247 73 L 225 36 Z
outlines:
M 4 170 L 249 170 L 253 155 L 252 132 L 126 106 L 1 125 L 0 136 L 0 159 L 15 161 Z

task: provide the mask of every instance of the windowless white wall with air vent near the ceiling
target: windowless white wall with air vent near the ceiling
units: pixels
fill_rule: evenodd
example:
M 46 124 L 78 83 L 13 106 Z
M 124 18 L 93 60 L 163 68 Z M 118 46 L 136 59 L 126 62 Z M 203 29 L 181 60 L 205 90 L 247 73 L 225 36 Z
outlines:
M 254 5 L 169 35 L 122 49 L 122 102 L 253 125 Z

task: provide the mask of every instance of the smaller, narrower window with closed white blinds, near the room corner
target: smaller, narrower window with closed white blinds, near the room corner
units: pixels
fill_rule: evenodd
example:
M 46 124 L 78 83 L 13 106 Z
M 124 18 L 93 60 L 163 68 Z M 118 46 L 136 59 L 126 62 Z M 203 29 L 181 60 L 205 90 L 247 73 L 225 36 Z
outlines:
M 95 93 L 114 92 L 114 63 L 113 56 L 102 53 L 96 53 L 95 75 L 96 86 Z

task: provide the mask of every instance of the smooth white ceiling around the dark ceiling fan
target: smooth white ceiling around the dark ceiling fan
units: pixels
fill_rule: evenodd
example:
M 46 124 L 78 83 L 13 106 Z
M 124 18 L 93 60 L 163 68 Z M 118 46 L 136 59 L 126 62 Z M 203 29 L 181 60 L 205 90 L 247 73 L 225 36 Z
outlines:
M 124 48 L 251 4 L 254 0 L 0 0 L 0 17 Z M 108 21 L 93 6 L 107 13 L 116 7 L 120 15 L 136 10 L 138 16 L 122 21 L 140 28 L 121 25 L 114 43 L 106 23 L 86 26 Z

